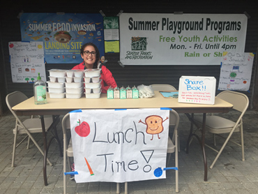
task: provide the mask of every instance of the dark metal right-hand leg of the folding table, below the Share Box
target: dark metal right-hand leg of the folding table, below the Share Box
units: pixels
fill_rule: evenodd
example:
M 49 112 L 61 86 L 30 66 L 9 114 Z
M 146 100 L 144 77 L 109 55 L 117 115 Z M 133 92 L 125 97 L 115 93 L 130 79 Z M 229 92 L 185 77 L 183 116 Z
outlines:
M 205 148 L 204 148 L 205 147 L 206 113 L 204 113 L 203 117 L 202 117 L 202 137 L 201 137 L 201 139 L 195 133 L 192 133 L 194 124 L 195 124 L 195 126 L 197 126 L 199 128 L 199 126 L 193 120 L 194 119 L 194 114 L 192 113 L 191 116 L 190 116 L 190 114 L 185 114 L 185 115 L 188 117 L 189 121 L 191 122 L 190 134 L 188 136 L 188 141 L 187 141 L 187 144 L 186 144 L 186 153 L 188 154 L 189 145 L 190 145 L 190 141 L 192 139 L 192 136 L 197 137 L 197 140 L 199 141 L 199 144 L 202 147 L 202 155 L 204 157 L 204 181 L 207 181 L 207 179 L 208 179 L 208 167 L 207 167 L 206 153 L 205 153 Z

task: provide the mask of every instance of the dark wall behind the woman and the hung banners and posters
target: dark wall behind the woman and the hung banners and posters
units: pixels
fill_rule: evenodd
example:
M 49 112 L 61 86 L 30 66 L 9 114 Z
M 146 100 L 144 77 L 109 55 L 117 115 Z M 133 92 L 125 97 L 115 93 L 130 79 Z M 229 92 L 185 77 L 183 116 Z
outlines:
M 24 13 L 99 13 L 100 10 L 106 16 L 116 16 L 121 10 L 124 13 L 174 13 L 182 11 L 183 13 L 248 13 L 248 31 L 245 43 L 245 52 L 256 52 L 258 41 L 258 12 L 257 7 L 252 3 L 245 1 L 206 1 L 197 3 L 195 1 L 79 1 L 79 3 L 63 3 L 64 1 L 19 1 L 14 3 L 8 1 L 5 6 L 1 6 L 1 50 L 3 50 L 3 63 L 1 70 L 5 69 L 7 89 L 1 85 L 1 96 L 21 90 L 27 96 L 33 96 L 31 84 L 13 83 L 10 75 L 10 62 L 8 55 L 8 42 L 20 41 L 20 20 L 17 18 L 23 10 Z M 176 89 L 179 87 L 179 77 L 181 75 L 204 75 L 214 76 L 218 80 L 220 75 L 220 66 L 125 66 L 121 67 L 119 54 L 106 54 L 107 68 L 112 71 L 119 87 L 137 86 L 139 84 L 172 84 Z M 255 63 L 257 63 L 255 61 Z M 46 64 L 46 70 L 52 68 L 70 69 L 75 64 Z M 255 70 L 255 66 L 253 68 Z M 252 100 L 254 93 L 254 77 L 252 73 L 252 83 L 250 93 L 244 92 Z M 48 73 L 48 72 L 47 72 Z M 257 77 L 257 76 L 256 76 Z M 218 82 L 217 82 L 218 85 Z M 2 88 L 3 87 L 3 88 Z M 3 91 L 2 91 L 3 90 Z M 3 92 L 6 91 L 6 94 Z M 218 91 L 217 91 L 218 93 Z M 4 105 L 3 105 L 4 106 Z

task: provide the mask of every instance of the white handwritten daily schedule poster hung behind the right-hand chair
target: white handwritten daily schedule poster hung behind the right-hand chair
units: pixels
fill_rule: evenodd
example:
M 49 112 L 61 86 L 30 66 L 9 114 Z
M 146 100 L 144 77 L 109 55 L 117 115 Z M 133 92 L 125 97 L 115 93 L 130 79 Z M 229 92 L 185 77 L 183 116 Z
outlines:
M 220 68 L 220 90 L 248 91 L 255 54 L 224 52 Z

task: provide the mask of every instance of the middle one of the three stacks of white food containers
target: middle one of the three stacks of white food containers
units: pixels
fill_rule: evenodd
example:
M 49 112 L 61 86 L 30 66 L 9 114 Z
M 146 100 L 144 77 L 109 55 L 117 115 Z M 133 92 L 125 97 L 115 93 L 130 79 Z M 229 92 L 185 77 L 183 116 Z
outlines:
M 84 70 L 66 70 L 66 98 L 81 98 Z

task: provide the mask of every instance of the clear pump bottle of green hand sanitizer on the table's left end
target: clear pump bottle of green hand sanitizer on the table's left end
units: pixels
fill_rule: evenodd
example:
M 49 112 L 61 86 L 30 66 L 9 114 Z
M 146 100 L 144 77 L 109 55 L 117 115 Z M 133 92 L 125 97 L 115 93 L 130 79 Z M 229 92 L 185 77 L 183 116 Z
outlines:
M 38 81 L 33 84 L 34 100 L 36 105 L 43 105 L 47 103 L 47 87 L 45 82 L 41 80 L 40 73 L 38 73 Z

